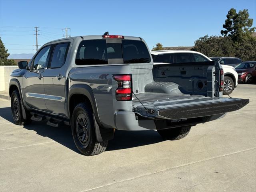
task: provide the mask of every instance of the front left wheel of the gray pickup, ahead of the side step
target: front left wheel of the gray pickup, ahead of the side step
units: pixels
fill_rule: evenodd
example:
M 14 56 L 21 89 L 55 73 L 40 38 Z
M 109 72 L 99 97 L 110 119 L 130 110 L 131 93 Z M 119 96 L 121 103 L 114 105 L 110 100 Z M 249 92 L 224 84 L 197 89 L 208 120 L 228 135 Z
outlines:
M 20 93 L 18 92 L 18 90 L 14 90 L 11 95 L 11 109 L 12 109 L 12 118 L 14 120 L 14 124 L 16 125 L 25 125 L 31 122 L 30 112 L 26 109 L 25 109 L 26 119 L 23 118 L 21 105 L 22 103 L 20 100 Z

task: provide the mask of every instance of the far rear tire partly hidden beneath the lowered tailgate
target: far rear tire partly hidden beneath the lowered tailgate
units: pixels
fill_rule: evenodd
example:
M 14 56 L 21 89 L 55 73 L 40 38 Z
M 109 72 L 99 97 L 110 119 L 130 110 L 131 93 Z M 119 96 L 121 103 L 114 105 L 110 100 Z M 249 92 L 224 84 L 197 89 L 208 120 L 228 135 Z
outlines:
M 157 130 L 162 138 L 166 140 L 179 140 L 186 137 L 190 131 L 191 126 L 176 127 L 169 129 Z

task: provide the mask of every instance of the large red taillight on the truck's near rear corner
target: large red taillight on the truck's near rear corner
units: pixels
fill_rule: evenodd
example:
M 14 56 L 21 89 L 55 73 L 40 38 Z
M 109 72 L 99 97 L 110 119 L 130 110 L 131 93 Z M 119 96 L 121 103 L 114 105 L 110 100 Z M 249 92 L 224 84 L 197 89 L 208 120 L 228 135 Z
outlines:
M 117 81 L 116 100 L 132 100 L 132 75 L 113 75 L 113 78 Z

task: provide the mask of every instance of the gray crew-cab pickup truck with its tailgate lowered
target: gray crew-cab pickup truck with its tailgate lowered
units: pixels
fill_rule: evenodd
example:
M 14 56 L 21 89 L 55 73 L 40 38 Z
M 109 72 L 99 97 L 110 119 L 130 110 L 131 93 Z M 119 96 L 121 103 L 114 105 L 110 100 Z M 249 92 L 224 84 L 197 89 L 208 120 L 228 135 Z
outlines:
M 15 124 L 70 125 L 86 156 L 106 150 L 116 129 L 157 130 L 178 140 L 191 126 L 249 102 L 222 98 L 218 62 L 162 65 L 152 72 L 152 56 L 139 37 L 105 33 L 55 40 L 18 66 L 9 85 Z

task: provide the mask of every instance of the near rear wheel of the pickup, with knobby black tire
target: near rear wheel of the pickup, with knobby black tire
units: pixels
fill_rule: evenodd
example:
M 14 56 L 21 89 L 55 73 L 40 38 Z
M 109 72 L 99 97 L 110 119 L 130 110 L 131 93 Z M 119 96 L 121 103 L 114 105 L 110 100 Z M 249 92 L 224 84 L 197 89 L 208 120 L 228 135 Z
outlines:
M 86 125 L 82 126 L 83 128 L 86 127 L 86 129 L 84 129 L 87 131 L 87 134 L 82 133 L 86 135 L 85 137 L 87 137 L 87 143 L 84 145 L 82 143 L 82 139 L 84 137 L 81 139 L 78 132 L 78 130 L 82 130 L 81 127 L 78 128 L 78 121 L 80 120 L 80 117 L 86 120 Z M 79 103 L 75 106 L 71 118 L 71 128 L 75 145 L 82 154 L 92 156 L 100 154 L 106 150 L 108 141 L 98 142 L 96 140 L 92 109 L 85 102 Z

